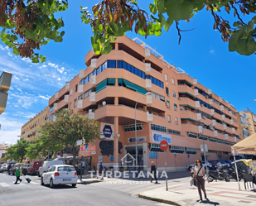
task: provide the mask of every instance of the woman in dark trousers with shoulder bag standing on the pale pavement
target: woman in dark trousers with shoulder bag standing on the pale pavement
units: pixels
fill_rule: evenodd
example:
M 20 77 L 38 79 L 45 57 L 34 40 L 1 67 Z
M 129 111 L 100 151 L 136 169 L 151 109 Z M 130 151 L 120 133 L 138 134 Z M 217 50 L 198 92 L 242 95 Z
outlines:
M 201 190 L 203 190 L 205 194 L 205 199 L 207 199 L 206 192 L 205 192 L 205 169 L 202 165 L 202 162 L 200 160 L 196 160 L 195 170 L 194 170 L 194 176 L 192 180 L 196 178 L 196 186 L 198 189 L 198 193 L 200 195 L 199 202 L 201 203 L 203 201 L 202 199 L 202 193 Z

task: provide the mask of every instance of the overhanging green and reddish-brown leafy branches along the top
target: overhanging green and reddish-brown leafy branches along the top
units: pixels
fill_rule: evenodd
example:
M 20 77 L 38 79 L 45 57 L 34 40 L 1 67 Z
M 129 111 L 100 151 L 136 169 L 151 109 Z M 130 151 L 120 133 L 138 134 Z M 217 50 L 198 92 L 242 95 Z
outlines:
M 56 20 L 54 13 L 65 11 L 68 1 L 59 0 L 2 0 L 0 2 L 0 26 L 2 42 L 12 48 L 15 55 L 31 58 L 32 62 L 44 62 L 46 57 L 36 54 L 35 49 L 50 40 L 62 41 L 64 26 L 62 19 Z M 80 7 L 81 20 L 92 26 L 94 36 L 91 43 L 96 54 L 108 54 L 111 42 L 126 31 L 141 36 L 161 36 L 175 23 L 181 41 L 180 21 L 190 22 L 191 18 L 205 8 L 214 18 L 213 28 L 220 31 L 223 41 L 229 41 L 229 51 L 241 55 L 252 55 L 256 51 L 255 0 L 154 0 L 149 4 L 151 14 L 138 7 L 137 0 L 99 0 L 93 8 L 93 17 L 87 7 Z M 220 16 L 222 12 L 234 12 L 237 22 L 233 26 Z M 254 16 L 244 22 L 241 16 Z

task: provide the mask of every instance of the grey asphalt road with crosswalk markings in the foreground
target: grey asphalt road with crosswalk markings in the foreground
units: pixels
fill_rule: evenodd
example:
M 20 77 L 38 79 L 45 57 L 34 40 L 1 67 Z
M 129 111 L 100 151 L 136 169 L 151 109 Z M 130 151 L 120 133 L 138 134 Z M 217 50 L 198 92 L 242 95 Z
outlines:
M 186 171 L 186 173 L 188 172 Z M 177 173 L 179 177 L 181 173 Z M 171 175 L 174 179 L 175 175 Z M 147 199 L 139 199 L 138 193 L 156 189 L 160 184 L 151 184 L 148 180 L 118 180 L 118 182 L 101 182 L 94 184 L 77 184 L 76 188 L 70 185 L 58 185 L 55 189 L 41 186 L 40 178 L 27 175 L 31 179 L 28 184 L 22 176 L 21 184 L 14 184 L 16 177 L 5 173 L 0 174 L 0 205 L 1 206 L 40 206 L 40 205 L 167 205 Z M 170 178 L 171 179 L 171 178 Z M 172 183 L 171 183 L 172 182 Z M 174 184 L 169 180 L 168 184 Z

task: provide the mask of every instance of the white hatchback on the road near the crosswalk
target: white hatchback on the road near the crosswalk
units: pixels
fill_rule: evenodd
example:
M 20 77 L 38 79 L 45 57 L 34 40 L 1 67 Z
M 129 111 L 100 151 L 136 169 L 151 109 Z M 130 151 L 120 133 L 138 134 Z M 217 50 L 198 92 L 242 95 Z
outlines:
M 77 183 L 77 173 L 72 165 L 52 165 L 41 175 L 41 185 L 50 184 L 53 188 L 56 184 L 71 184 L 73 188 Z

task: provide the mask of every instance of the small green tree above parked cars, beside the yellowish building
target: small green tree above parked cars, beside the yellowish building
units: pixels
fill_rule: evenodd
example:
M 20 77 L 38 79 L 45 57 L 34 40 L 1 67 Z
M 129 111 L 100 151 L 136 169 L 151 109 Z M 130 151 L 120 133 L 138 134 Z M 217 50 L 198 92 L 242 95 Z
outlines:
M 23 157 L 26 156 L 26 148 L 29 145 L 27 140 L 18 140 L 16 145 L 10 146 L 7 148 L 7 159 L 12 159 L 16 161 L 23 160 Z

